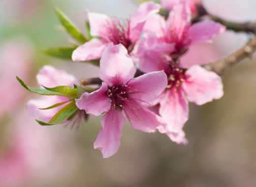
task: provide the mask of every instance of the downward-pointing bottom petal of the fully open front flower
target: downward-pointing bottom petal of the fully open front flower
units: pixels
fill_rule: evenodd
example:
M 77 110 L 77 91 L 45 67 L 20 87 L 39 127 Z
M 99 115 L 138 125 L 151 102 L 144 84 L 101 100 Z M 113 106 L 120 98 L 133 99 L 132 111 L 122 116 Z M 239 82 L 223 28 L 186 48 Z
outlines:
M 94 142 L 94 148 L 99 149 L 103 158 L 114 155 L 120 146 L 122 128 L 125 124 L 125 117 L 119 108 L 110 109 L 101 119 L 102 128 Z

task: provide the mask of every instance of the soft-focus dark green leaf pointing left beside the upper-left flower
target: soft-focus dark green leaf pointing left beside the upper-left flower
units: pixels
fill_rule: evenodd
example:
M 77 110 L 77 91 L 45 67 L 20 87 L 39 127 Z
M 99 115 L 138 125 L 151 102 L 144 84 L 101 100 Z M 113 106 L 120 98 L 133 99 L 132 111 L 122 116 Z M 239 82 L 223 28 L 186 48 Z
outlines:
M 50 56 L 70 60 L 72 59 L 71 56 L 75 49 L 76 47 L 59 47 L 59 48 L 50 48 L 47 50 L 43 50 L 42 52 Z

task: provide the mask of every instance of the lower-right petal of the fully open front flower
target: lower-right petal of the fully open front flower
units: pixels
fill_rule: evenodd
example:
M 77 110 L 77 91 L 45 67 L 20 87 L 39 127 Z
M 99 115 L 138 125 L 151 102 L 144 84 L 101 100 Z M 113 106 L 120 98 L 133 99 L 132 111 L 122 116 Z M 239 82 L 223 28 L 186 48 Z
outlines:
M 123 109 L 134 129 L 146 133 L 155 133 L 157 129 L 161 133 L 166 132 L 166 124 L 163 119 L 148 108 L 139 105 L 136 100 L 124 105 Z

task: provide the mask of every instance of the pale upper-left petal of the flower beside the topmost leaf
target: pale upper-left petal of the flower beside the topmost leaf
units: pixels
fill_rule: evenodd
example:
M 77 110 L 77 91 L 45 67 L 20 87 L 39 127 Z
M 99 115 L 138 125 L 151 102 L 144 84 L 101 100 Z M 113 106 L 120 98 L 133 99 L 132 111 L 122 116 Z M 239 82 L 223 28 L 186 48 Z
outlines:
M 107 20 L 109 20 L 109 16 L 105 14 L 99 14 L 96 12 L 89 12 L 86 11 L 87 18 L 90 25 L 90 32 L 92 36 L 102 36 L 101 28 L 102 25 L 105 25 L 107 23 Z

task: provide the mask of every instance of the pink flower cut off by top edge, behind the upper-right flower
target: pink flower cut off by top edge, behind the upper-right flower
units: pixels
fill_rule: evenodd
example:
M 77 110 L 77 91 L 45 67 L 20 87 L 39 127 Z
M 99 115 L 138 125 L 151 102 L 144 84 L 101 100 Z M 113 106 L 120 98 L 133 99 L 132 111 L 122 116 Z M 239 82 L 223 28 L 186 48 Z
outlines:
M 172 10 L 175 4 L 180 3 L 183 0 L 160 0 L 163 8 Z M 201 0 L 185 0 L 189 4 L 191 12 L 196 12 L 196 5 L 201 3 Z

